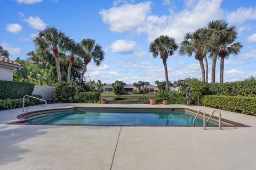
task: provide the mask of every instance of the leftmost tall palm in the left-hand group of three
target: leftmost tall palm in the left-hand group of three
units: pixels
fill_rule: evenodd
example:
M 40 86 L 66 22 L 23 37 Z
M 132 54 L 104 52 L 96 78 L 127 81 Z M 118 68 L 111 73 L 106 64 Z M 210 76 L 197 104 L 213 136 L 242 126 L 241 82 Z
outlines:
M 46 29 L 39 31 L 38 35 L 34 38 L 36 47 L 43 50 L 49 49 L 53 52 L 59 82 L 61 81 L 59 49 L 64 45 L 66 37 L 65 33 L 58 31 L 57 28 L 47 27 Z

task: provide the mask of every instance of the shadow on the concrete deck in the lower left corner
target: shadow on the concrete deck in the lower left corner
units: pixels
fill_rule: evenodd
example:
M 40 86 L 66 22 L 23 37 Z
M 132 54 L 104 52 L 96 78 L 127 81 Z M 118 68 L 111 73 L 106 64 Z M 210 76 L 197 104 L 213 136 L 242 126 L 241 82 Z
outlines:
M 49 128 L 47 126 L 32 127 L 31 125 L 14 125 L 5 128 L 1 126 L 0 165 L 19 162 L 23 154 L 30 152 L 29 149 L 22 148 L 22 142 L 46 134 L 47 132 L 42 130 Z

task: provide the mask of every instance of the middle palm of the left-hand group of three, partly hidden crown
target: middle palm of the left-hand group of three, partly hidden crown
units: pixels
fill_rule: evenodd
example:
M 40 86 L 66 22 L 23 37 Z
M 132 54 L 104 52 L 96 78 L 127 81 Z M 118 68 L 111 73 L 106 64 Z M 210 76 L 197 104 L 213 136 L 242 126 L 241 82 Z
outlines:
M 67 81 L 70 81 L 70 77 L 71 77 L 71 68 L 72 68 L 72 64 L 75 60 L 75 55 L 78 52 L 78 44 L 70 38 L 66 38 L 65 41 L 65 46 L 63 47 L 64 50 L 69 52 L 69 65 L 68 65 L 68 75 L 67 75 Z

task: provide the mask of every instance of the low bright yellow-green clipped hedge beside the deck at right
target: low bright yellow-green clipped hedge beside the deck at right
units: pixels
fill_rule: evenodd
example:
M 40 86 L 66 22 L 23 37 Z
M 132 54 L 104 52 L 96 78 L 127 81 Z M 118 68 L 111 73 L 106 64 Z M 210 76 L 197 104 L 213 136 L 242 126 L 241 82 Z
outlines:
M 256 116 L 256 97 L 207 95 L 202 98 L 202 104 Z

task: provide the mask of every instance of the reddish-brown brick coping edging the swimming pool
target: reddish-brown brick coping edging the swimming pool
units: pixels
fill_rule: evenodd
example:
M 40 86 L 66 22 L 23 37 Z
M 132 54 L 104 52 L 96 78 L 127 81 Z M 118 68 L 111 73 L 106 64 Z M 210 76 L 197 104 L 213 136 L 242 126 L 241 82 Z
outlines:
M 190 108 L 148 108 L 148 107 L 77 107 L 77 106 L 72 106 L 68 108 L 54 108 L 54 109 L 44 109 L 41 111 L 31 111 L 31 112 L 26 112 L 22 113 L 17 116 L 19 121 L 14 121 L 11 123 L 7 124 L 15 124 L 15 125 L 55 125 L 55 126 L 129 126 L 129 127 L 203 127 L 202 125 L 105 125 L 105 124 L 35 124 L 35 123 L 25 123 L 26 117 L 29 116 L 34 116 L 34 115 L 39 115 L 39 114 L 45 114 L 45 113 L 50 113 L 54 111 L 72 111 L 74 109 L 94 109 L 94 110 L 142 110 L 142 111 L 183 111 L 187 112 L 190 114 L 197 114 L 198 111 L 195 111 Z M 203 116 L 202 112 L 199 112 L 198 116 Z M 210 114 L 205 114 L 205 118 L 209 117 Z M 217 116 L 212 116 L 213 121 L 217 122 L 219 120 L 219 117 Z M 222 125 L 223 127 L 251 127 L 249 125 L 245 125 L 242 123 L 234 122 L 227 120 L 225 118 L 221 118 L 221 123 L 225 124 Z M 208 126 L 208 127 L 217 127 L 217 126 Z

